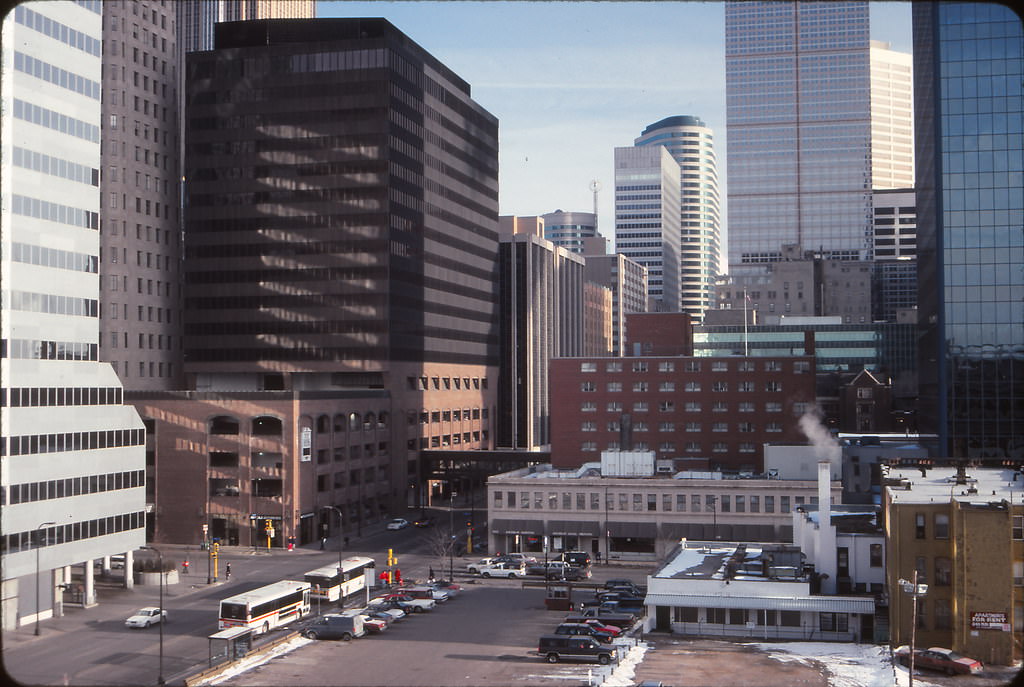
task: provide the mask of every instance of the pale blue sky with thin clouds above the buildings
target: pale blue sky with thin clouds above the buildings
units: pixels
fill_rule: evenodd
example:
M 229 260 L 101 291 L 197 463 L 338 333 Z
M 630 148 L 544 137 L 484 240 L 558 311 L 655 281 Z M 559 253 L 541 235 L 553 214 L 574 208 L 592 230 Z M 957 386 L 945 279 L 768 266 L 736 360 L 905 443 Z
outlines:
M 910 52 L 910 3 L 870 8 L 871 38 Z M 499 119 L 502 214 L 590 211 L 597 179 L 610 240 L 613 148 L 671 115 L 713 129 L 724 211 L 721 2 L 321 0 L 317 16 L 382 16 L 469 82 Z

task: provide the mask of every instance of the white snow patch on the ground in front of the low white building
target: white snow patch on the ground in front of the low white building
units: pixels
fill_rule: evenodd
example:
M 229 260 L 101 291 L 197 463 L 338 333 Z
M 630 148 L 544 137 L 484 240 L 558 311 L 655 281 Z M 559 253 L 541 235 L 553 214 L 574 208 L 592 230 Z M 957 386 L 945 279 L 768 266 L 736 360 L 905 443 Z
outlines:
M 805 664 L 820 663 L 828 673 L 831 687 L 893 687 L 909 685 L 907 671 L 893 665 L 889 649 L 873 644 L 840 644 L 835 642 L 755 642 L 749 644 L 772 658 L 795 660 Z M 936 687 L 914 680 L 918 687 Z

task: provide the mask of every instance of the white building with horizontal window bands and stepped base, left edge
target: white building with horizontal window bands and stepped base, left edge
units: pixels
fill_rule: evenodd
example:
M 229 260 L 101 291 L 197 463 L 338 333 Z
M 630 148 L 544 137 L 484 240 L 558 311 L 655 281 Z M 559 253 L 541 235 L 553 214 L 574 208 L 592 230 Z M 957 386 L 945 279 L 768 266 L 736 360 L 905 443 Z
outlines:
M 126 553 L 130 570 L 145 543 L 142 423 L 98 357 L 100 5 L 3 20 L 5 630 L 95 604 L 94 561 Z

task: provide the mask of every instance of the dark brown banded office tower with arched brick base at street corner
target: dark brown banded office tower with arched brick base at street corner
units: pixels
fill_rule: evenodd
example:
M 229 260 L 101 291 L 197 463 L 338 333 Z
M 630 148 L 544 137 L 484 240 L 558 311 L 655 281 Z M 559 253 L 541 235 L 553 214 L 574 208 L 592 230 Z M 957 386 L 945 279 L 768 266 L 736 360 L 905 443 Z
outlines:
M 155 538 L 421 503 L 416 452 L 493 446 L 497 120 L 383 19 L 220 24 L 187 72 L 188 390 L 133 396 Z

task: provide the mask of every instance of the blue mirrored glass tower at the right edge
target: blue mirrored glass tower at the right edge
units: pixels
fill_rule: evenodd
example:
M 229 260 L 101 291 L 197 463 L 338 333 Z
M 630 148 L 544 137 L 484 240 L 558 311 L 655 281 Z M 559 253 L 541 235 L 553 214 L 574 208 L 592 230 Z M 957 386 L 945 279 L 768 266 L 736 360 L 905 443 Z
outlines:
M 1024 456 L 1024 31 L 997 4 L 913 6 L 922 429 Z

